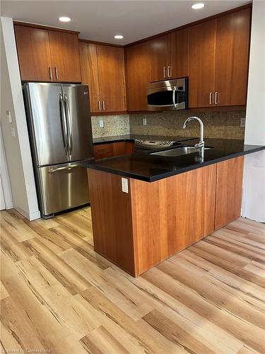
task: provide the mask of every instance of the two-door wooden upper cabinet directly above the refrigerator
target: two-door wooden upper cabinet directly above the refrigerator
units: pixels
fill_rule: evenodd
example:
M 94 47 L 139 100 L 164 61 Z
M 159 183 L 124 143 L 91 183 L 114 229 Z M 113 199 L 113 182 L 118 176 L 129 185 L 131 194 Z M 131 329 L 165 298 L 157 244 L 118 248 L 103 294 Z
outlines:
M 78 35 L 15 25 L 23 81 L 81 82 Z

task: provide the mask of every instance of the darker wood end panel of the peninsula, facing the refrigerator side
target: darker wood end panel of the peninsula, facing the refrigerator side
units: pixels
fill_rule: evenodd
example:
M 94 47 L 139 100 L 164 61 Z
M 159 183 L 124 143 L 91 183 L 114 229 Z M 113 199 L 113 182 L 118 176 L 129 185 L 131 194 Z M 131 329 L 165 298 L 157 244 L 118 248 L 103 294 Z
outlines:
M 112 173 L 88 169 L 88 181 L 95 251 L 134 275 L 131 195 Z

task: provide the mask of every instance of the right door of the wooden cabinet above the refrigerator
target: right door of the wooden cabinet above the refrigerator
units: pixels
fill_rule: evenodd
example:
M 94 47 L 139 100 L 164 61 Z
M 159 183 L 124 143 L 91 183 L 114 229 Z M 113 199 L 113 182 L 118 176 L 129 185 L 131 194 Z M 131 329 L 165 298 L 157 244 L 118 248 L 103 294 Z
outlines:
M 81 82 L 78 35 L 49 30 L 54 81 Z

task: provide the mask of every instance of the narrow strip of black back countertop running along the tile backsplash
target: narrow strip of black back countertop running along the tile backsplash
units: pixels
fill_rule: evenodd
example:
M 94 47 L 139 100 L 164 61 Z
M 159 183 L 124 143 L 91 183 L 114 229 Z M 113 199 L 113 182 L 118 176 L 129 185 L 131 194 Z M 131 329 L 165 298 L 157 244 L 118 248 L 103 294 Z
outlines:
M 107 144 L 108 142 L 134 142 L 135 139 L 143 140 L 163 140 L 172 142 L 182 142 L 184 140 L 197 139 L 196 137 L 166 137 L 164 135 L 115 135 L 113 137 L 94 137 L 93 144 Z

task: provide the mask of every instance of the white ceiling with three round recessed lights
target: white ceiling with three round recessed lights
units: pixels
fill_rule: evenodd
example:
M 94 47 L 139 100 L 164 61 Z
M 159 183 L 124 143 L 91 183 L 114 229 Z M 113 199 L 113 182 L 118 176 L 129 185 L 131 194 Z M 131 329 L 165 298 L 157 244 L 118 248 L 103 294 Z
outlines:
M 205 8 L 191 8 L 192 4 L 202 1 Z M 249 0 L 4 0 L 1 16 L 79 30 L 80 38 L 125 45 L 248 3 Z M 60 23 L 59 16 L 69 16 L 72 21 Z M 114 34 L 122 34 L 124 39 L 114 40 Z

